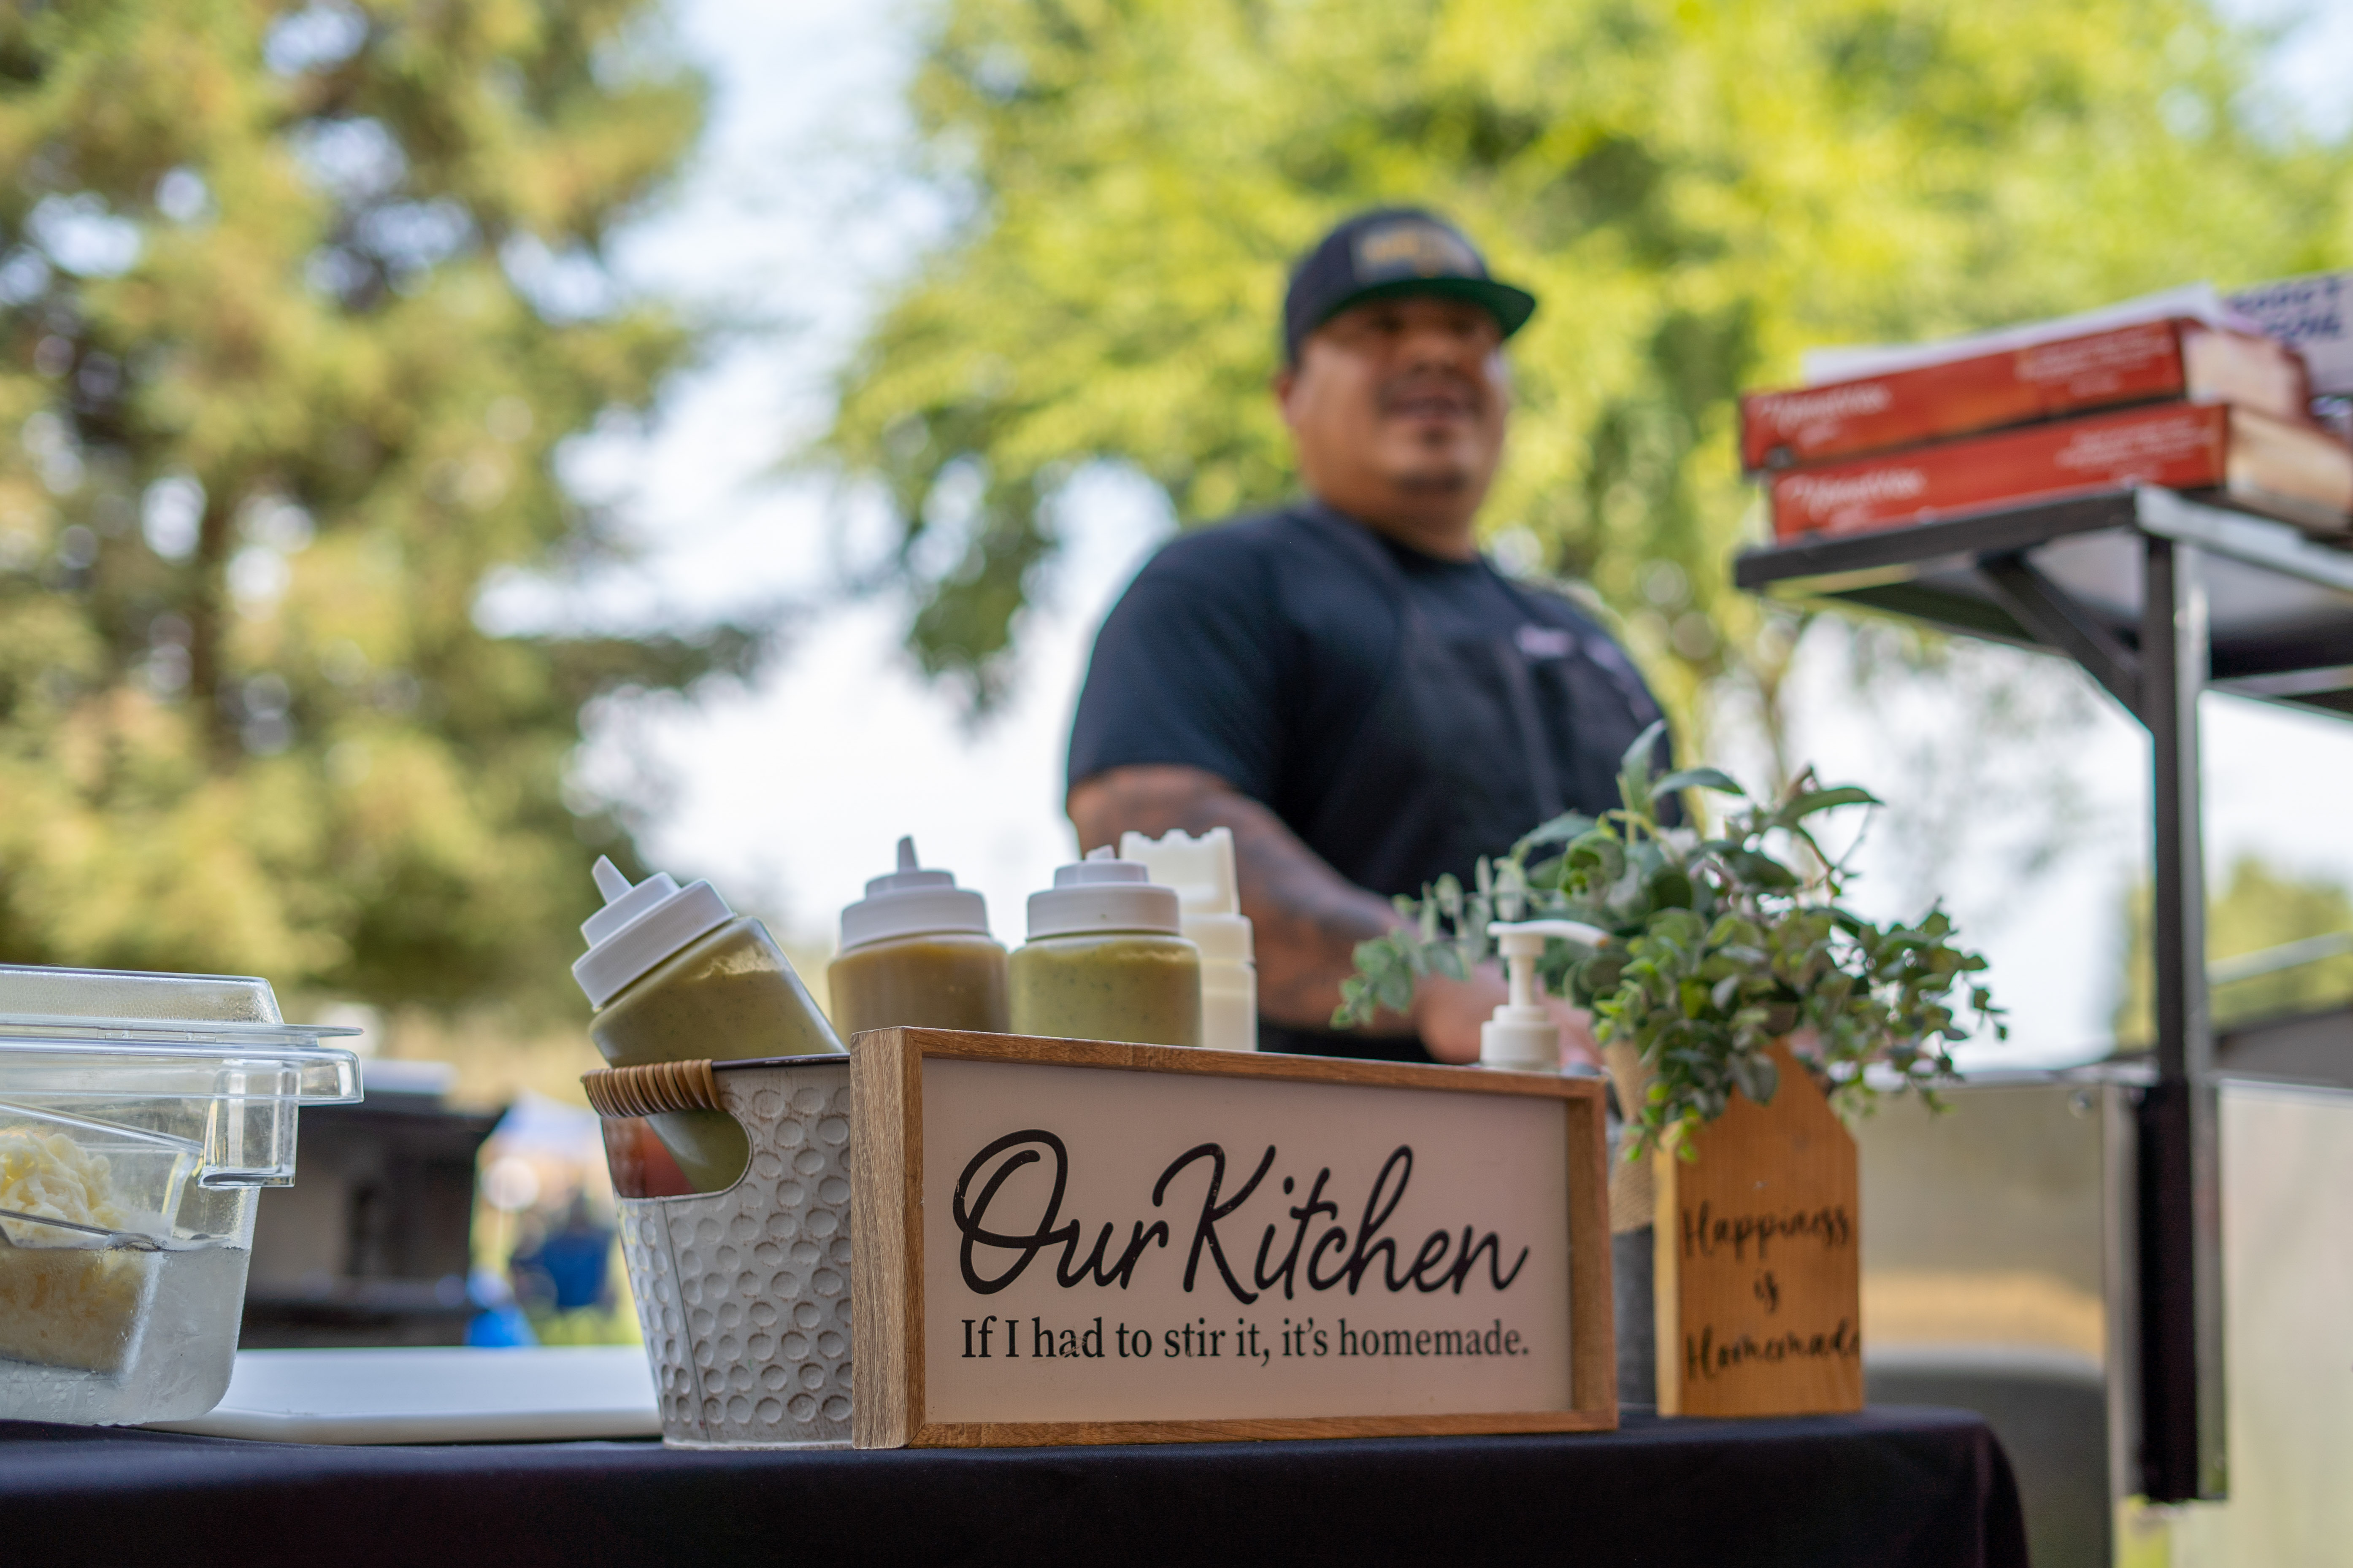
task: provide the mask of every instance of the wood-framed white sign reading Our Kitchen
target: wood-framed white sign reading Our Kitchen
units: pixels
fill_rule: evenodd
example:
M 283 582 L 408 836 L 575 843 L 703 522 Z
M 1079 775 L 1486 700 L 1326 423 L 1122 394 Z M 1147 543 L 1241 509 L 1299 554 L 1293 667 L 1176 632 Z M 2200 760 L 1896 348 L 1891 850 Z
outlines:
M 1617 1425 L 1602 1086 L 875 1030 L 859 1448 Z

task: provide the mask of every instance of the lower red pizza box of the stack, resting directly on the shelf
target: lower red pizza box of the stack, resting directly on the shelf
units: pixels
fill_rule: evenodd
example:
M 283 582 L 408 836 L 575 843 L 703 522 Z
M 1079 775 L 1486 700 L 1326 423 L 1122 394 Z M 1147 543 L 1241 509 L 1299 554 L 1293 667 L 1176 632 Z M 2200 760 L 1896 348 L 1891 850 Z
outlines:
M 2353 512 L 2353 447 L 2311 423 L 2167 402 L 1772 477 L 1779 538 L 1864 534 L 2071 494 L 2212 489 L 2315 534 Z

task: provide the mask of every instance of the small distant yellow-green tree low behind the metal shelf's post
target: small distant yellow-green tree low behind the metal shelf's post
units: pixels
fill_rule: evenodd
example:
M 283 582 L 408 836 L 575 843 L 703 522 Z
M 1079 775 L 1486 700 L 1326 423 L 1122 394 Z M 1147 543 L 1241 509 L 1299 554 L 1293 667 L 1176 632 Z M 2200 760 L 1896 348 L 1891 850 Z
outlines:
M 2155 971 L 2148 947 L 2148 884 L 2125 898 L 2125 973 L 2115 1001 L 2120 1046 L 2155 1039 L 2151 1016 Z M 2315 952 L 2313 961 L 2228 978 L 2228 959 L 2304 943 L 2315 936 L 2353 936 L 2353 889 L 2329 877 L 2297 877 L 2261 856 L 2231 863 L 2231 879 L 2207 893 L 2207 964 L 2221 971 L 2212 992 L 2217 1027 L 2313 1013 L 2353 1001 L 2353 954 Z

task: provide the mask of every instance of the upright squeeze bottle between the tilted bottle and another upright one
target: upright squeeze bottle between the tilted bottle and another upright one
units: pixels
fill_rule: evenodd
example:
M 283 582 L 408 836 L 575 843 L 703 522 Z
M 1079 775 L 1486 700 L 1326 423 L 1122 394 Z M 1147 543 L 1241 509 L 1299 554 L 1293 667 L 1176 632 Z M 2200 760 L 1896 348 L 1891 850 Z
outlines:
M 826 969 L 833 1025 L 845 1037 L 892 1025 L 1005 1034 L 1005 987 L 988 900 L 920 870 L 915 839 L 899 839 L 899 870 L 842 907 L 842 950 Z

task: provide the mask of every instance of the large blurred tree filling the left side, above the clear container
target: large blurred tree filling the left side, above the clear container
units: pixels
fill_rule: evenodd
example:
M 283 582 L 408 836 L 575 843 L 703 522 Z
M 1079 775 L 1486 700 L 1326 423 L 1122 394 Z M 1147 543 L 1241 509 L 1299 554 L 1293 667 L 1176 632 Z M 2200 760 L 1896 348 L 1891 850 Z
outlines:
M 562 994 L 581 705 L 751 646 L 475 623 L 692 348 L 602 268 L 701 125 L 647 12 L 0 7 L 0 957 Z

